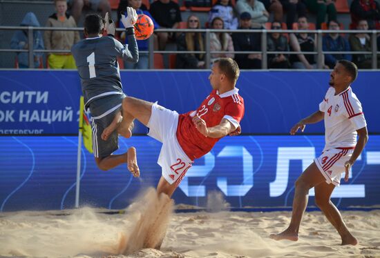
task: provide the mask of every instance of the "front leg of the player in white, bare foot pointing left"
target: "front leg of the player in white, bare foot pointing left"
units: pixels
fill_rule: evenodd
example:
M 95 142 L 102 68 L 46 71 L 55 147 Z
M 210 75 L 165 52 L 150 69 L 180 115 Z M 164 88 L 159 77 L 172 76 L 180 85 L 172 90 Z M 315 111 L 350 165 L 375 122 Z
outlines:
M 321 172 L 319 172 L 319 168 L 317 168 L 314 162 L 306 168 L 295 183 L 296 190 L 294 191 L 292 220 L 290 221 L 289 227 L 279 234 L 270 235 L 270 238 L 274 240 L 287 239 L 298 241 L 298 231 L 303 213 L 306 210 L 307 200 L 309 199 L 309 190 L 324 181 L 325 178 Z

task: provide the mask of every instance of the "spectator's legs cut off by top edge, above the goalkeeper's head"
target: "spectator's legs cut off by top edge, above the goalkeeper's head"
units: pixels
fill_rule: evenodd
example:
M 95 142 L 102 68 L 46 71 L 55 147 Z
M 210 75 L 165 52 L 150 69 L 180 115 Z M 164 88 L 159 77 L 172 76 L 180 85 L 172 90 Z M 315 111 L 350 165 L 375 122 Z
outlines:
M 93 10 L 94 12 L 101 12 L 102 17 L 106 16 L 106 13 L 111 14 L 111 5 L 108 0 L 67 0 L 68 6 L 70 6 L 71 14 L 78 24 L 83 8 Z

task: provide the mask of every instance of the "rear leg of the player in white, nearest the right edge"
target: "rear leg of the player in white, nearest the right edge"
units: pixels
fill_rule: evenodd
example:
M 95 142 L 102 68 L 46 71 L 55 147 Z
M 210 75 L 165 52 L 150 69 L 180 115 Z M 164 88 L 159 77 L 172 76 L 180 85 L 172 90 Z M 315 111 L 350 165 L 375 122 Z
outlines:
M 351 235 L 347 226 L 345 226 L 341 213 L 330 200 L 334 188 L 335 186 L 332 183 L 320 183 L 318 186 L 315 186 L 315 204 L 322 210 L 332 226 L 336 228 L 339 235 L 341 235 L 342 246 L 355 246 L 358 244 L 357 239 Z

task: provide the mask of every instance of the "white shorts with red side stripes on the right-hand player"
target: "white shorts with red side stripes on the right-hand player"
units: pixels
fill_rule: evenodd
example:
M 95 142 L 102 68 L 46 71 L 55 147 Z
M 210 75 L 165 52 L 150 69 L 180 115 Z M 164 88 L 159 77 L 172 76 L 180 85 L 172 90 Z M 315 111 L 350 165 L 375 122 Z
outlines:
M 342 173 L 345 172 L 344 163 L 350 159 L 352 152 L 354 150 L 351 148 L 332 148 L 314 159 L 326 183 L 333 183 L 335 186 L 341 184 Z

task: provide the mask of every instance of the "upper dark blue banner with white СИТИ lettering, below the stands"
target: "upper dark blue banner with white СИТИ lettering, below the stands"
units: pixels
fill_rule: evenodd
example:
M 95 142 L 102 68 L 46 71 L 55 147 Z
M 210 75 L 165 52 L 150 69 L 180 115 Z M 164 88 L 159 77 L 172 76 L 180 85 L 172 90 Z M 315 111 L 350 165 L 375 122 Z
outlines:
M 207 71 L 121 72 L 127 95 L 158 101 L 178 112 L 198 108 L 211 86 Z M 245 99 L 243 133 L 287 133 L 318 110 L 329 72 L 241 72 L 237 87 Z M 0 71 L 0 135 L 75 134 L 80 82 L 77 71 Z M 352 85 L 363 105 L 371 133 L 380 132 L 380 72 L 359 72 Z M 135 132 L 145 133 L 137 124 Z M 323 123 L 306 133 L 323 133 Z

